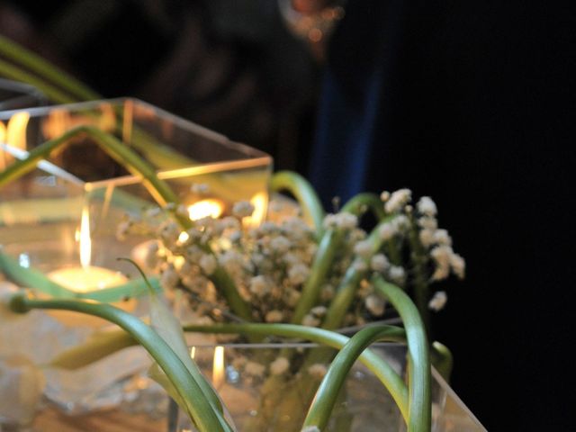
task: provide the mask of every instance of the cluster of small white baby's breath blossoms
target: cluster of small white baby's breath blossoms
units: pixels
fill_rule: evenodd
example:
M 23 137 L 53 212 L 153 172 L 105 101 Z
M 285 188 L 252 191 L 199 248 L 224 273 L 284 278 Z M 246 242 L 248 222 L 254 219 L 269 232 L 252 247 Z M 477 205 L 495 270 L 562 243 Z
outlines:
M 203 193 L 204 187 L 197 185 L 194 192 Z M 435 202 L 423 197 L 413 209 L 409 189 L 385 192 L 381 198 L 387 218 L 370 236 L 358 228 L 358 217 L 353 214 L 340 212 L 326 216 L 324 228 L 338 230 L 343 240 L 320 286 L 320 298 L 304 315 L 302 324 L 311 327 L 322 324 L 349 271 L 356 271 L 362 282 L 342 325 L 361 325 L 382 318 L 385 302 L 368 281 L 375 272 L 408 288 L 414 277 L 410 261 L 413 238 L 417 238 L 427 255 L 430 282 L 451 273 L 464 277 L 464 259 L 453 251 L 446 229 L 438 229 Z M 310 279 L 318 239 L 302 217 L 294 214 L 265 221 L 256 228 L 244 228 L 242 219 L 253 211 L 249 202 L 237 202 L 229 216 L 194 220 L 191 229 L 182 231 L 166 217 L 165 211 L 152 209 L 135 220 L 123 222 L 119 235 L 148 232 L 155 238 L 144 249 L 143 266 L 160 274 L 160 284 L 165 289 L 180 287 L 190 293 L 190 306 L 200 316 L 220 320 L 222 312 L 229 313 L 228 304 L 210 281 L 215 272 L 223 269 L 240 296 L 250 304 L 253 320 L 290 322 L 302 288 Z M 430 307 L 440 309 L 438 302 L 431 302 Z M 281 365 L 276 365 L 275 370 L 282 370 Z

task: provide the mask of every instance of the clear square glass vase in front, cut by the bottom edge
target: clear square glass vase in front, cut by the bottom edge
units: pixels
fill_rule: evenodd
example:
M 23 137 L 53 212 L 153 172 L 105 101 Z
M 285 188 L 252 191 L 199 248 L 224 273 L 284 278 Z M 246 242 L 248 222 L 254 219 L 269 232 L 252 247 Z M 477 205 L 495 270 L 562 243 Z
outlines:
M 406 374 L 406 347 L 371 349 Z M 191 355 L 219 393 L 238 432 L 301 432 L 322 374 L 337 351 L 307 343 L 229 344 L 193 347 Z M 278 359 L 284 357 L 286 362 Z M 284 369 L 285 367 L 285 369 Z M 486 429 L 446 381 L 432 370 L 432 431 Z M 171 403 L 168 432 L 193 432 L 192 421 Z M 322 432 L 401 432 L 406 425 L 383 383 L 356 361 Z

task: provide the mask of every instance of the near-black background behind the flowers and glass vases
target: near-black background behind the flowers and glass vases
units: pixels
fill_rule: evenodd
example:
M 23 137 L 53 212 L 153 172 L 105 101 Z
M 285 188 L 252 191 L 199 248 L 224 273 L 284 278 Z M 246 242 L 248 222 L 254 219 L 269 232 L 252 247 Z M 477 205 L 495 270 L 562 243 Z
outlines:
M 434 197 L 468 266 L 434 322 L 456 392 L 489 430 L 574 429 L 572 4 L 349 0 L 323 64 L 269 1 L 0 12 L 4 34 L 105 96 L 264 148 L 327 204 Z

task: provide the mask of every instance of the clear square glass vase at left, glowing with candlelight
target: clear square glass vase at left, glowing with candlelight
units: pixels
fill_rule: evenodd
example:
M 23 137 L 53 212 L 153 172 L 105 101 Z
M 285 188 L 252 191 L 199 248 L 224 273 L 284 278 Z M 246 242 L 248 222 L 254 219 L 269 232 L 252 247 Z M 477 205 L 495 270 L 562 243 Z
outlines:
M 0 171 L 45 141 L 89 126 L 148 161 L 191 219 L 229 214 L 238 201 L 256 208 L 247 223 L 266 216 L 271 157 L 148 103 L 115 99 L 3 111 L 0 123 Z M 136 277 L 117 258 L 134 257 L 146 238 L 119 241 L 117 230 L 127 213 L 163 204 L 145 186 L 90 133 L 72 135 L 36 169 L 0 186 L 0 277 L 6 263 L 44 274 L 96 266 Z M 81 245 L 83 238 L 89 246 Z

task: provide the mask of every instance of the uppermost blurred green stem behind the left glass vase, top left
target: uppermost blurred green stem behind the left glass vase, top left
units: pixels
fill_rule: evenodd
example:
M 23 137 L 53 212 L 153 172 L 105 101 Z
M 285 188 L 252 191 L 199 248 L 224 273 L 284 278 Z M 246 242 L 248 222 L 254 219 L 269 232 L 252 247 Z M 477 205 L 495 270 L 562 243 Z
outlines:
M 17 63 L 28 67 L 38 76 L 43 76 L 47 80 L 58 84 L 63 89 L 66 89 L 69 94 L 73 94 L 76 97 L 76 99 L 70 99 L 70 102 L 102 98 L 100 94 L 95 93 L 92 89 L 83 85 L 73 76 L 68 75 L 62 69 L 53 66 L 51 63 L 37 54 L 34 54 L 30 50 L 23 48 L 21 45 L 14 42 L 14 40 L 9 40 L 4 36 L 0 36 L 0 53 L 2 53 L 6 58 L 10 58 Z M 2 72 L 1 69 L 0 72 Z M 15 76 L 15 78 L 19 79 L 18 76 Z M 47 95 L 49 96 L 49 94 Z

